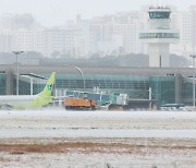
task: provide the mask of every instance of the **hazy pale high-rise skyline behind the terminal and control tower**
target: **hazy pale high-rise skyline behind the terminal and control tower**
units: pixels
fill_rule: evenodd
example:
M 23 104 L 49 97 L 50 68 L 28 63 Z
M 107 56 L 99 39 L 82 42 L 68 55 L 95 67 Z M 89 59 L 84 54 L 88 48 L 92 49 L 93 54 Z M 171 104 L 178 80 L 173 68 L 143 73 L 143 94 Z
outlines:
M 46 57 L 69 56 L 87 58 L 91 55 L 147 53 L 147 45 L 139 40 L 142 29 L 148 29 L 146 7 L 140 11 L 68 21 L 58 27 L 38 25 L 32 14 L 5 13 L 0 16 L 0 52 L 12 50 L 37 51 Z M 152 22 L 150 22 L 152 23 Z M 171 53 L 188 58 L 196 52 L 196 5 L 179 12 L 172 8 L 168 24 L 180 32 L 179 44 L 171 44 Z

